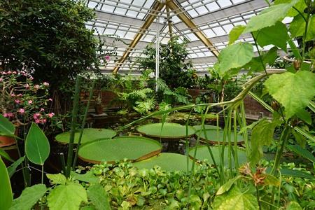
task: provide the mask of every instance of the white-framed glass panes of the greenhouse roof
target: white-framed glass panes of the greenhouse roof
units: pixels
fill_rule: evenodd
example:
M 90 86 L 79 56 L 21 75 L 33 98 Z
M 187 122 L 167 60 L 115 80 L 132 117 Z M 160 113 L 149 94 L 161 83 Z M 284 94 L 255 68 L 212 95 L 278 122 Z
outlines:
M 167 0 L 174 1 L 178 8 L 169 10 L 166 6 L 162 10 L 154 9 L 155 1 L 158 0 L 88 0 L 87 6 L 93 8 L 96 19 L 86 23 L 86 27 L 94 29 L 94 34 L 101 36 L 106 45 L 106 50 L 116 49 L 117 58 L 111 59 L 104 72 L 111 72 L 117 66 L 117 60 L 127 50 L 129 58 L 122 63 L 119 72 L 136 71 L 137 64 L 133 61 L 142 55 L 146 45 L 155 46 L 156 36 L 159 31 L 160 43 L 166 44 L 170 36 L 179 36 L 180 41 L 188 40 L 189 58 L 194 68 L 199 73 L 206 73 L 207 68 L 216 62 L 216 57 L 193 31 L 202 31 L 216 49 L 221 50 L 228 45 L 228 34 L 236 25 L 246 25 L 246 22 L 267 7 L 262 0 Z M 165 2 L 159 0 L 159 2 Z M 158 13 L 158 15 L 156 15 Z M 175 14 L 177 13 L 177 14 Z M 179 18 L 179 13 L 185 14 L 195 24 L 194 28 L 188 27 Z M 155 20 L 148 27 L 142 29 L 137 45 L 129 48 L 134 36 L 146 22 L 146 19 L 154 15 Z M 159 18 L 156 18 L 158 16 Z M 172 34 L 169 33 L 169 21 L 172 22 Z M 283 20 L 284 23 L 290 19 Z M 120 38 L 120 41 L 117 38 Z M 239 41 L 250 41 L 250 34 L 240 36 Z M 263 48 L 268 50 L 269 46 Z M 257 50 L 256 50 L 257 51 Z

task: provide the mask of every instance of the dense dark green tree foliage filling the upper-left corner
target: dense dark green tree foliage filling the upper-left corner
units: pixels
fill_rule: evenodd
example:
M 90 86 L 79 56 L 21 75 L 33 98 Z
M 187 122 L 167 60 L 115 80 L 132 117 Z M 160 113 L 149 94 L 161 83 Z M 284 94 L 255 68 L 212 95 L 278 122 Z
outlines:
M 85 22 L 94 18 L 84 1 L 5 0 L 0 3 L 0 60 L 16 67 L 29 58 L 34 78 L 56 88 L 69 77 L 99 65 L 101 50 Z

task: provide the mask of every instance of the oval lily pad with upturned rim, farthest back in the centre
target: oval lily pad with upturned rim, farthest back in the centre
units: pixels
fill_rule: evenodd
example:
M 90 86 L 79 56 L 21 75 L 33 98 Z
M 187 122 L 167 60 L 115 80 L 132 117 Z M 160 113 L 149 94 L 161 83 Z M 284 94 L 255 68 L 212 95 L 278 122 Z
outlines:
M 162 132 L 161 132 L 162 128 Z M 180 139 L 186 137 L 186 125 L 178 123 L 152 123 L 137 127 L 137 131 L 148 137 L 161 137 L 165 139 Z M 188 137 L 195 134 L 193 127 L 188 126 Z

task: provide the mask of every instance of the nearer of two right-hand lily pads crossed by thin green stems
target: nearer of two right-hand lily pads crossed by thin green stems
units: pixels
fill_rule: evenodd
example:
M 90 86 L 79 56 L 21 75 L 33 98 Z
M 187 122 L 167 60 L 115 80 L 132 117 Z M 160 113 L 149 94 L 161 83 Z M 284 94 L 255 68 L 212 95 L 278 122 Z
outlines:
M 210 146 L 210 148 L 211 148 L 212 153 L 214 154 L 214 160 L 216 161 L 216 165 L 220 165 L 221 160 L 220 160 L 219 147 L 218 146 Z M 220 148 L 220 149 L 222 150 L 222 148 Z M 189 151 L 189 155 L 191 158 L 194 157 L 194 153 L 195 153 L 195 147 L 191 148 Z M 237 156 L 238 156 L 239 165 L 246 162 L 246 160 L 247 160 L 246 159 L 246 152 L 244 150 L 239 148 L 237 150 Z M 197 147 L 196 159 L 200 160 L 200 161 L 207 160 L 209 163 L 214 164 L 207 146 L 198 146 Z M 225 146 L 225 150 L 224 150 L 224 165 L 226 167 L 228 167 L 228 165 L 229 165 L 228 146 Z M 235 166 L 235 162 L 234 162 L 234 158 L 232 157 L 232 167 L 234 167 L 234 166 Z

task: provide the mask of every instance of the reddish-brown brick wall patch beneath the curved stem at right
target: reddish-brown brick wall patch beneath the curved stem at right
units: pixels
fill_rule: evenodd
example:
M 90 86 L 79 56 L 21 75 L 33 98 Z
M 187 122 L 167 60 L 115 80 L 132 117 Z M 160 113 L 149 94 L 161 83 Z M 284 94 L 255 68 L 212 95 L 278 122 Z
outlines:
M 245 106 L 245 112 L 246 114 L 253 115 L 253 116 L 259 116 L 260 113 L 264 113 L 264 116 L 271 117 L 272 113 L 267 111 L 264 106 L 259 104 L 253 97 L 250 95 L 246 95 L 244 98 L 244 106 Z

